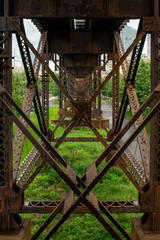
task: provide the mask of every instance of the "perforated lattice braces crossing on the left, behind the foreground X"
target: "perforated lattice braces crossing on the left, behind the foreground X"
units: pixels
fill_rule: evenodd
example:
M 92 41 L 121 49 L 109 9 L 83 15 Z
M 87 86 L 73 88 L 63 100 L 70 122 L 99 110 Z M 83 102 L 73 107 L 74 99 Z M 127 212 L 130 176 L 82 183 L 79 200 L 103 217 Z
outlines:
M 17 38 L 19 39 L 18 36 L 17 36 Z M 40 55 L 42 55 L 44 52 L 46 38 L 47 38 L 47 32 L 42 33 L 40 41 L 39 41 L 39 45 L 38 45 L 38 52 Z M 22 49 L 23 49 L 23 51 L 21 50 L 21 54 L 24 53 L 24 55 L 22 55 L 22 56 L 23 56 L 23 62 L 24 62 L 24 66 L 26 69 L 26 75 L 27 75 L 27 81 L 28 81 L 28 86 L 27 86 L 25 97 L 24 97 L 22 109 L 25 112 L 25 114 L 27 116 L 29 116 L 30 112 L 31 112 L 31 108 L 32 108 L 33 99 L 34 99 L 34 102 L 36 103 L 36 106 L 39 105 L 39 101 L 38 101 L 37 97 L 35 97 L 35 94 L 37 94 L 36 96 L 38 96 L 38 92 L 36 90 L 36 83 L 38 81 L 40 62 L 37 58 L 35 58 L 34 64 L 33 64 L 33 70 L 35 72 L 35 77 L 34 77 L 33 70 L 31 67 L 32 65 L 31 65 L 28 48 L 27 48 L 25 42 L 23 41 L 23 39 L 21 39 L 21 41 L 19 41 L 19 45 L 20 45 L 20 43 L 21 43 Z M 31 81 L 31 78 L 34 79 L 33 82 Z M 39 109 L 39 107 L 36 107 L 36 108 Z M 39 113 L 39 116 L 41 116 L 40 110 L 38 111 L 38 113 Z M 20 117 L 20 119 L 21 119 L 21 117 Z M 42 118 L 41 118 L 41 122 L 43 122 Z M 27 126 L 26 122 L 24 122 L 24 124 L 25 124 L 25 126 Z M 20 163 L 23 144 L 24 144 L 24 139 L 25 139 L 25 135 L 20 131 L 20 129 L 17 128 L 15 138 L 14 138 L 14 145 L 13 145 L 13 164 L 14 164 L 13 177 L 14 178 L 16 178 L 16 176 L 17 176 L 18 166 Z

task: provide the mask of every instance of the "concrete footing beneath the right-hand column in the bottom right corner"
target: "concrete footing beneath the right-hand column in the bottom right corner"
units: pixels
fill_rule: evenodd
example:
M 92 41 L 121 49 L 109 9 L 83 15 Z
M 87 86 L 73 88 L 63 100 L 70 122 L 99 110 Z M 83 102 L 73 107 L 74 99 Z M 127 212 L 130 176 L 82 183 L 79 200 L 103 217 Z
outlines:
M 160 240 L 160 233 L 144 231 L 141 218 L 132 218 L 132 240 Z

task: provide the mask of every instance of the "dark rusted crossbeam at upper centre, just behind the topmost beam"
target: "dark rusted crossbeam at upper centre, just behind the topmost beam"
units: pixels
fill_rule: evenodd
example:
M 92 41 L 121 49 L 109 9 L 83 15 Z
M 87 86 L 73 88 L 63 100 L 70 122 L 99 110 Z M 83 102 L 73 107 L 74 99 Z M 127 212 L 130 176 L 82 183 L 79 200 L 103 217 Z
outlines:
M 68 20 L 69 21 L 69 20 Z M 105 22 L 105 26 L 104 26 Z M 110 21 L 107 21 L 108 24 Z M 115 20 L 116 22 L 116 20 Z M 49 22 L 48 22 L 49 24 Z M 74 31 L 66 26 L 55 26 L 48 32 L 48 52 L 57 54 L 103 54 L 113 53 L 113 29 L 106 29 L 106 21 L 99 23 L 99 28 L 92 30 Z M 102 25 L 102 26 L 101 26 Z M 104 31 L 105 28 L 105 31 Z M 55 34 L 56 33 L 56 34 Z M 94 56 L 90 56 L 90 62 L 93 64 Z M 88 56 L 89 57 L 89 56 Z M 93 59 L 92 59 L 93 58 Z M 84 59 L 85 60 L 85 59 Z M 82 58 L 81 58 L 82 61 Z M 90 64 L 90 65 L 91 65 Z

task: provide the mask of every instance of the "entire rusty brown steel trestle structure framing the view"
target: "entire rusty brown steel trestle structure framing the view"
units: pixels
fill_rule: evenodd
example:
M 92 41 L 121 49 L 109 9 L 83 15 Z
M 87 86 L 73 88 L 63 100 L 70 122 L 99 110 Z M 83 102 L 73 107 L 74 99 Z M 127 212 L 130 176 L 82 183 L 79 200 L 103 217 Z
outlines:
M 89 212 L 100 221 L 114 239 L 142 239 L 135 237 L 137 235 L 134 233 L 131 238 L 112 215 L 112 213 L 132 212 L 144 213 L 140 228 L 148 234 L 158 236 L 160 231 L 159 14 L 159 0 L 128 0 L 127 5 L 125 0 L 91 0 L 87 5 L 85 0 L 80 3 L 75 0 L 0 0 L 1 233 L 12 233 L 21 229 L 20 213 L 50 213 L 37 232 L 31 236 L 30 240 L 35 240 L 57 214 L 61 213 L 61 218 L 44 238 L 50 239 L 73 212 Z M 25 18 L 31 19 L 41 32 L 37 50 L 25 33 L 23 25 Z M 124 52 L 120 31 L 129 19 L 140 19 L 140 23 L 135 40 Z M 27 78 L 22 107 L 12 98 L 13 33 L 16 34 Z M 151 35 L 152 93 L 140 106 L 135 89 L 135 76 L 147 33 Z M 30 51 L 35 55 L 34 63 Z M 132 57 L 128 64 L 127 56 L 130 53 Z M 109 60 L 113 63 L 113 69 L 101 82 L 101 70 L 105 69 Z M 49 61 L 54 62 L 59 77 L 49 67 Z M 37 87 L 40 66 L 42 66 L 42 101 Z M 125 81 L 121 103 L 119 102 L 120 67 Z M 60 89 L 60 121 L 53 131 L 49 129 L 49 76 Z M 106 129 L 107 138 L 104 138 L 99 134 L 92 117 L 97 118 L 99 124 L 102 124 L 101 92 L 111 78 L 113 81 L 112 130 Z M 29 118 L 32 104 L 39 128 Z M 128 104 L 133 116 L 122 128 Z M 143 119 L 142 114 L 148 106 L 151 110 Z M 13 109 L 20 117 L 17 117 Z M 55 138 L 55 131 L 68 116 L 71 117 L 71 121 L 64 133 L 60 138 Z M 145 126 L 150 121 L 149 141 Z M 13 123 L 17 125 L 17 130 L 12 143 Z M 135 131 L 127 141 L 123 142 L 122 137 L 132 125 L 135 126 Z M 67 137 L 75 126 L 88 126 L 95 137 Z M 37 134 L 39 140 L 29 129 Z M 21 161 L 25 137 L 34 147 Z M 136 137 L 142 161 L 137 159 L 128 148 Z M 57 150 L 65 141 L 101 142 L 105 150 L 80 178 Z M 51 142 L 55 142 L 54 147 Z M 102 162 L 105 162 L 105 165 L 98 171 L 97 168 Z M 46 163 L 60 175 L 70 191 L 59 202 L 54 199 L 25 201 L 26 188 Z M 94 195 L 93 188 L 113 165 L 118 165 L 136 187 L 139 193 L 138 201 L 106 201 L 105 199 L 99 201 Z

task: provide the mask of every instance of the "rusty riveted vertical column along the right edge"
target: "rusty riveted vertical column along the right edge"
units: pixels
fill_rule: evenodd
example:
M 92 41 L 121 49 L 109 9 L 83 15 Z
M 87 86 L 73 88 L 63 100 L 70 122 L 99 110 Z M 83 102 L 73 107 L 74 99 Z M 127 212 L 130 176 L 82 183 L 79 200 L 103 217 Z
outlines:
M 157 21 L 159 18 L 159 7 L 160 2 L 154 1 L 155 8 L 154 14 L 157 17 Z M 159 23 L 157 22 L 157 30 L 151 33 L 151 90 L 158 86 L 159 84 L 159 62 L 160 62 L 160 31 L 159 31 Z M 155 99 L 156 100 L 156 99 Z M 153 105 L 151 104 L 151 108 Z M 160 171 L 159 171 L 159 111 L 151 121 L 151 153 L 152 158 L 150 161 L 150 178 L 149 178 L 149 188 L 146 189 L 144 196 L 142 196 L 142 206 L 143 209 L 147 208 L 147 203 L 150 198 L 153 201 L 153 204 L 147 208 L 147 214 L 143 215 L 143 228 L 147 231 L 154 231 L 155 233 L 159 232 L 159 196 L 160 196 Z M 153 221 L 154 220 L 154 221 Z

